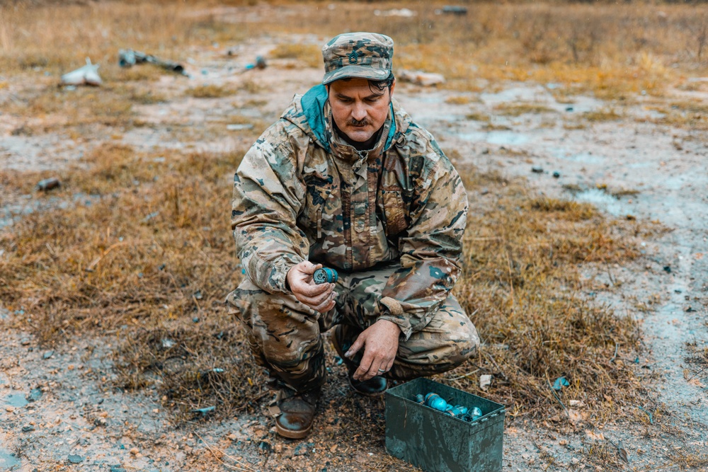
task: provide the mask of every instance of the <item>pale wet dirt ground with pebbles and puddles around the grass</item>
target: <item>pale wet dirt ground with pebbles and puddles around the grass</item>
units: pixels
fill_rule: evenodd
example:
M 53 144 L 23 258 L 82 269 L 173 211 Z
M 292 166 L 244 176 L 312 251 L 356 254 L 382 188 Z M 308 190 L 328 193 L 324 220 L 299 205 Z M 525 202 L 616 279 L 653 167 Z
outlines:
M 321 44 L 324 38 L 291 40 Z M 193 51 L 193 60 L 185 64 L 190 78 L 164 75 L 154 83 L 156 91 L 176 98 L 134 107 L 148 125 L 123 132 L 118 141 L 165 152 L 249 145 L 251 138 L 239 129 L 210 142 L 190 141 L 172 129 L 223 123 L 234 109 L 253 117 L 255 126 L 267 125 L 293 93 L 303 93 L 321 80 L 319 69 L 302 68 L 289 59 L 273 59 L 263 70 L 244 72 L 256 56 L 267 57 L 274 41 L 259 38 Z M 1 71 L 0 79 L 8 84 L 0 94 L 18 97 L 38 88 L 55 93 L 58 81 L 42 76 L 39 84 L 32 84 L 2 76 Z M 190 98 L 182 93 L 195 85 L 246 80 L 261 87 L 227 98 Z M 655 110 L 657 104 L 675 101 L 705 103 L 708 78 L 704 84 L 694 91 L 670 89 L 663 98 L 638 93 L 628 103 L 605 103 L 590 96 L 559 101 L 556 84 L 528 82 L 494 84 L 493 92 L 482 93 L 403 82 L 396 87 L 404 108 L 433 132 L 442 149 L 457 151 L 460 159 L 483 170 L 523 176 L 530 188 L 549 196 L 590 202 L 614 217 L 657 220 L 668 229 L 642 242 L 643 255 L 632 265 L 586 267 L 586 277 L 597 289 L 584 296 L 617 312 L 632 313 L 642 322 L 646 355 L 625 358 L 619 347 L 617 359 L 635 362 L 646 372 L 647 384 L 656 391 L 653 403 L 637 403 L 640 420 L 632 427 L 612 418 L 596 420 L 596 428 L 583 421 L 560 426 L 557 418 L 542 425 L 523 418 L 508 421 L 504 471 L 706 470 L 708 372 L 689 362 L 687 343 L 698 351 L 708 343 L 708 133 L 661 124 L 661 112 Z M 499 105 L 530 103 L 545 108 L 518 116 L 496 111 Z M 609 108 L 617 117 L 583 120 L 583 113 Z M 472 119 L 480 115 L 489 116 L 490 122 Z M 115 142 L 108 128 L 103 136 L 74 142 L 59 132 L 17 133 L 18 125 L 0 110 L 0 163 L 5 168 L 57 169 L 101 142 Z M 470 195 L 472 200 L 481 197 Z M 37 209 L 32 195 L 7 196 L 0 224 L 11 224 L 13 214 Z M 14 313 L 3 311 L 1 316 Z M 361 449 L 358 438 L 347 436 L 348 422 L 380 416 L 382 401 L 354 397 L 341 366 L 331 367 L 324 401 L 329 404 L 328 416 L 318 418 L 316 434 L 294 442 L 280 439 L 265 414 L 244 413 L 228 421 L 176 429 L 152 391 L 123 393 L 110 388 L 114 374 L 105 357 L 109 349 L 106 341 L 74 338 L 47 351 L 31 335 L 6 330 L 0 343 L 1 470 L 417 470 L 390 458 L 383 438 L 377 447 Z M 651 412 L 661 415 L 662 421 Z M 612 444 L 626 451 L 627 461 L 619 458 L 619 449 Z

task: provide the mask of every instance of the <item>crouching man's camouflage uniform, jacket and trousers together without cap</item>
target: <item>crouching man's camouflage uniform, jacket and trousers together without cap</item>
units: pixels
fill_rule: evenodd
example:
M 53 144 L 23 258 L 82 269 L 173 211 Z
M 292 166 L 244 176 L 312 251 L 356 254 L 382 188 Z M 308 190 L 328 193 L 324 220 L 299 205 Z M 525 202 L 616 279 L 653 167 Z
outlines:
M 338 325 L 335 344 L 346 350 L 379 319 L 401 328 L 389 379 L 464 362 L 479 338 L 450 290 L 466 215 L 455 168 L 396 100 L 374 148 L 357 151 L 333 132 L 324 86 L 295 96 L 234 176 L 232 228 L 246 277 L 228 301 L 256 362 L 280 386 L 321 386 L 320 334 Z M 339 272 L 329 313 L 287 287 L 287 271 L 303 260 Z

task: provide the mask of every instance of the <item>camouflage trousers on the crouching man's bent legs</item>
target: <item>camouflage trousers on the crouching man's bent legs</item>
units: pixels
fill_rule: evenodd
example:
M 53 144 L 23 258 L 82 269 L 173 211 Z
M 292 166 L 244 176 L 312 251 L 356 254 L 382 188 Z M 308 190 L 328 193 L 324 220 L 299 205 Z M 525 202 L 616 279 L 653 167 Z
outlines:
M 310 309 L 293 295 L 265 292 L 248 278 L 229 294 L 227 302 L 238 310 L 236 316 L 246 327 L 253 357 L 268 370 L 271 385 L 307 391 L 326 381 L 321 333 L 338 326 L 333 330 L 337 337 L 333 344 L 346 352 L 359 333 L 377 320 L 382 289 L 398 267 L 339 272 L 336 305 L 328 313 Z M 399 341 L 393 367 L 384 376 L 411 380 L 447 372 L 476 355 L 478 346 L 476 328 L 450 295 L 423 330 Z M 343 352 L 338 353 L 343 357 Z

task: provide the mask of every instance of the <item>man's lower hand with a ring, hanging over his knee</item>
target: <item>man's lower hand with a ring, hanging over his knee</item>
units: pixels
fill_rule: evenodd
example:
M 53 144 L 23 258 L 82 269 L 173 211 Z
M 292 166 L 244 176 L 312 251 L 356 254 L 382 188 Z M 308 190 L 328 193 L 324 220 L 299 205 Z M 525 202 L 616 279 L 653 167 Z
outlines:
M 399 335 L 401 328 L 388 320 L 379 320 L 363 330 L 345 354 L 351 358 L 364 347 L 364 356 L 354 372 L 354 379 L 365 381 L 389 372 L 398 352 Z

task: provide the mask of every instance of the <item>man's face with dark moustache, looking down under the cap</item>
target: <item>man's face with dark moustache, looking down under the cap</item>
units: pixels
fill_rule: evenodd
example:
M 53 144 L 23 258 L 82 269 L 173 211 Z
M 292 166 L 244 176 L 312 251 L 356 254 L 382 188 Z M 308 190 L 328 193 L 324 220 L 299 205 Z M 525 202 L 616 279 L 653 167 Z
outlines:
M 332 117 L 341 132 L 356 142 L 366 142 L 384 125 L 389 113 L 391 88 L 379 91 L 366 79 L 334 81 L 329 85 Z

